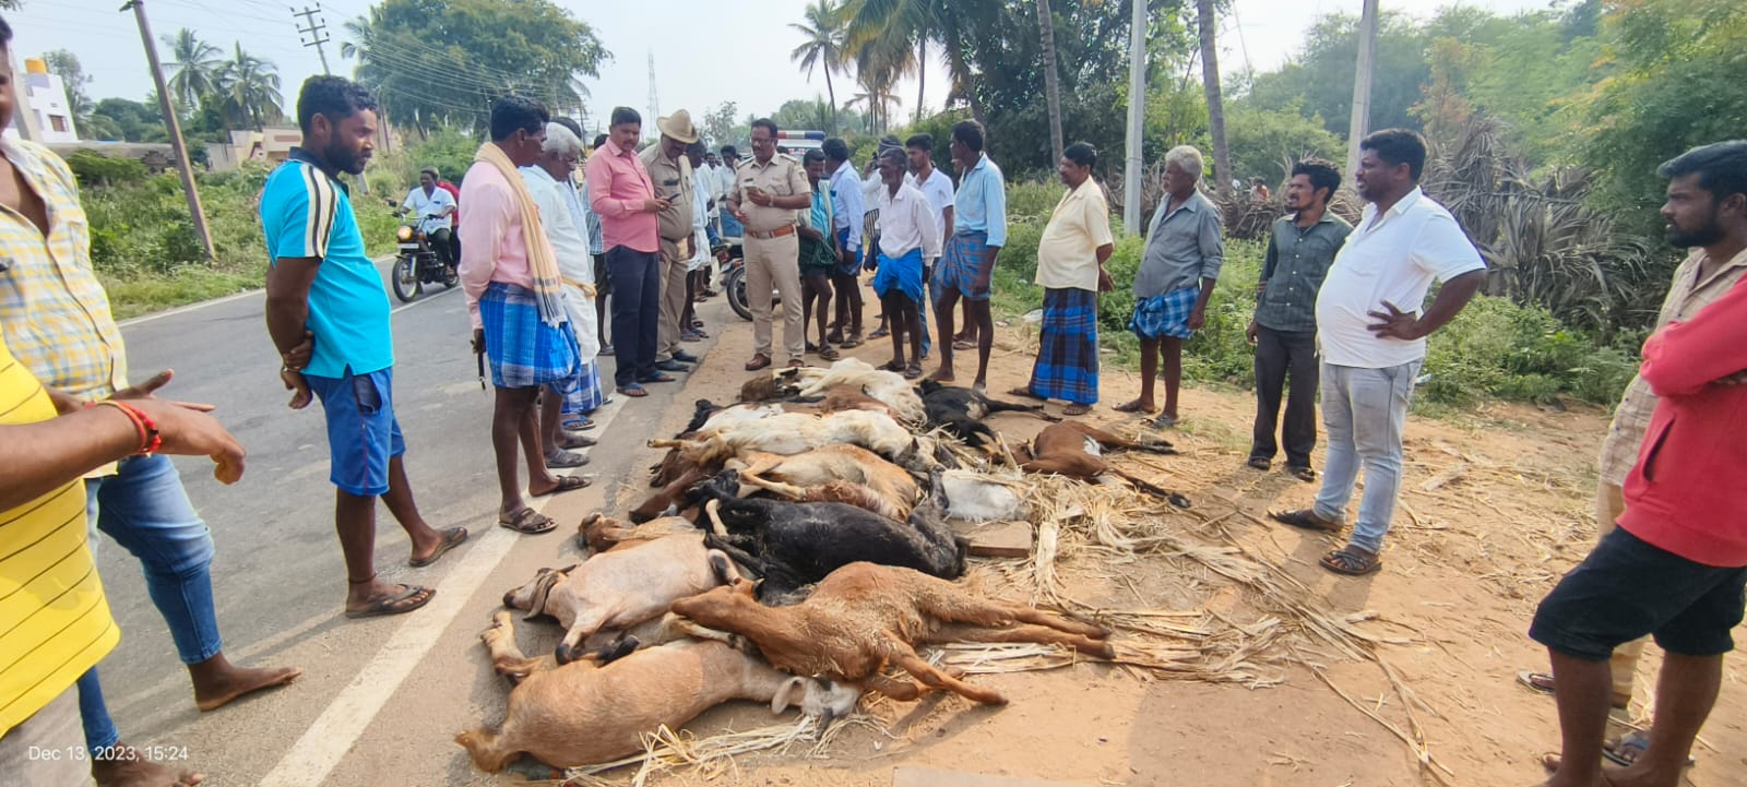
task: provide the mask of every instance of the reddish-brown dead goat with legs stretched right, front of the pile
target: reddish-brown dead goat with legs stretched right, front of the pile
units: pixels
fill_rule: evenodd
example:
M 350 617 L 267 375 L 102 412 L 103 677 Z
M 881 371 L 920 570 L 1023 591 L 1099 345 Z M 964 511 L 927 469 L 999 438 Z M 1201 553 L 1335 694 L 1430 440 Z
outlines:
M 753 585 L 734 585 L 681 599 L 680 614 L 702 626 L 739 633 L 758 646 L 765 660 L 797 675 L 823 675 L 879 691 L 893 700 L 915 700 L 921 688 L 884 675 L 900 667 L 931 689 L 1001 705 L 1001 693 L 966 684 L 929 665 L 919 644 L 1043 642 L 1064 644 L 1101 658 L 1115 658 L 1109 632 L 1024 604 L 978 599 L 964 588 L 921 571 L 877 564 L 849 564 L 825 578 L 807 600 L 791 607 L 765 607 Z

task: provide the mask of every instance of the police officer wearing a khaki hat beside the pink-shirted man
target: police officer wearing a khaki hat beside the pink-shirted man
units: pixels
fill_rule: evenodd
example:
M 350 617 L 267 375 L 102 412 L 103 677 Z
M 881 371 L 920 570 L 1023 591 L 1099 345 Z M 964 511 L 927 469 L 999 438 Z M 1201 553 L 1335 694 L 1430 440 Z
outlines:
M 660 326 L 655 339 L 655 368 L 662 372 L 690 372 L 687 363 L 697 356 L 680 347 L 680 316 L 685 312 L 687 263 L 692 260 L 692 197 L 697 183 L 692 180 L 692 162 L 685 147 L 697 141 L 692 113 L 680 110 L 655 119 L 660 141 L 639 154 L 650 171 L 655 195 L 667 201 L 660 211 Z

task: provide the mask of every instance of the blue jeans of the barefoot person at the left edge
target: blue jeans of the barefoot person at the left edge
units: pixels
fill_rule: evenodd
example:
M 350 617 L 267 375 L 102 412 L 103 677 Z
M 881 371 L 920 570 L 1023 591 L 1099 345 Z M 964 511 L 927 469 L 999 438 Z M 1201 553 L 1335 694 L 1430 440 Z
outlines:
M 208 572 L 213 562 L 211 530 L 194 513 L 169 457 L 128 457 L 115 475 L 87 480 L 86 515 L 140 560 L 145 590 L 169 625 L 182 663 L 217 656 L 224 644 Z M 96 668 L 79 679 L 79 712 L 87 747 L 115 745 L 115 724 L 103 705 Z

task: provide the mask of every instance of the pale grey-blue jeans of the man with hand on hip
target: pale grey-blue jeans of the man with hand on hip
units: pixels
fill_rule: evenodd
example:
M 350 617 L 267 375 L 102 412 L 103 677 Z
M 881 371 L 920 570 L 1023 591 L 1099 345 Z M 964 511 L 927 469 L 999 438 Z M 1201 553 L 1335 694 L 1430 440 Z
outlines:
M 1359 466 L 1364 466 L 1364 497 L 1352 524 L 1352 544 L 1378 551 L 1396 515 L 1401 487 L 1401 428 L 1413 400 L 1420 363 L 1387 368 L 1357 368 L 1322 363 L 1322 426 L 1328 429 L 1328 459 L 1315 515 L 1328 522 L 1347 520 Z

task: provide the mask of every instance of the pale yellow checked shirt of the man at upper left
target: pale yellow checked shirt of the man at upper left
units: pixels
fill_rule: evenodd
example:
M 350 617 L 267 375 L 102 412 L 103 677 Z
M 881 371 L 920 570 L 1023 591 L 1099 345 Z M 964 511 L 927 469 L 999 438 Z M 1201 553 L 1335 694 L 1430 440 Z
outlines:
M 72 169 L 28 141 L 3 140 L 0 154 L 49 208 L 47 237 L 0 208 L 0 333 L 45 386 L 82 400 L 128 387 L 121 328 L 91 269 L 91 232 Z

